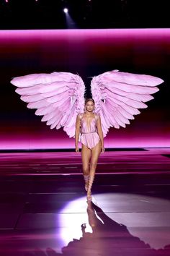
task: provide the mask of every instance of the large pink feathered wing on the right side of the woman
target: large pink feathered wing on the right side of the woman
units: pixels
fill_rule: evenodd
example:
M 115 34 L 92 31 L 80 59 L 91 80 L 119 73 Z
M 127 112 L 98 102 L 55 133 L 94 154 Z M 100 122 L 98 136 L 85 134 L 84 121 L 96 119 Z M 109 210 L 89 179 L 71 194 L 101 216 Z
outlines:
M 164 80 L 146 74 L 132 74 L 113 70 L 99 74 L 91 80 L 91 93 L 95 109 L 101 116 L 104 137 L 109 127 L 126 127 L 129 119 L 140 114 L 138 108 L 147 108 Z

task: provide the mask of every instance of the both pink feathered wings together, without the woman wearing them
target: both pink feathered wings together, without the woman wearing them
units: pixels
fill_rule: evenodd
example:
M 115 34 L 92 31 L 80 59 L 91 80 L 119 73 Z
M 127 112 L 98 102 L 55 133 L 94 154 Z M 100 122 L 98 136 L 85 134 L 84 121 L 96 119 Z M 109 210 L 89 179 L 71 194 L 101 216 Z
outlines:
M 113 70 L 99 74 L 91 80 L 91 93 L 95 111 L 101 116 L 104 137 L 109 127 L 126 127 L 138 108 L 147 108 L 164 80 L 146 74 L 132 74 Z M 37 108 L 50 129 L 60 129 L 69 137 L 75 135 L 76 116 L 84 112 L 85 85 L 81 77 L 70 72 L 27 74 L 11 81 L 17 87 L 27 108 Z

